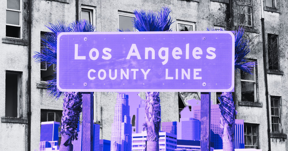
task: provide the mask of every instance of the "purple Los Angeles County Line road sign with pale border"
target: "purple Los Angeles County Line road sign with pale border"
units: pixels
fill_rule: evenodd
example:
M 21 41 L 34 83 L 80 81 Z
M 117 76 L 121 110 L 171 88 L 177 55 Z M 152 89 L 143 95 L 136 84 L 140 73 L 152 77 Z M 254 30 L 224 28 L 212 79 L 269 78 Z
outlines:
M 234 43 L 230 31 L 60 33 L 57 88 L 228 92 Z

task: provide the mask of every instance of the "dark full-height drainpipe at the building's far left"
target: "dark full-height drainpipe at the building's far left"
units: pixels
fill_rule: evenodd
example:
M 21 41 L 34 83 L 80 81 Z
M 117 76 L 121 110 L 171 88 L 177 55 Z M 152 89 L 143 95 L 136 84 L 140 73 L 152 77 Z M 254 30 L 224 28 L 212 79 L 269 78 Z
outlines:
M 28 151 L 31 150 L 31 14 L 32 0 L 29 0 L 29 46 L 28 46 Z

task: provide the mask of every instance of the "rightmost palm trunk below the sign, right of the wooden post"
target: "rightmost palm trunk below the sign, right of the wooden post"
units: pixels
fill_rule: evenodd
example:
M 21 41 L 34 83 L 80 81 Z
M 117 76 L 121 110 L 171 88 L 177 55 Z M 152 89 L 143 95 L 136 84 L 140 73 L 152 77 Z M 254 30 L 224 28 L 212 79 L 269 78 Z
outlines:
M 223 151 L 234 151 L 234 127 L 237 111 L 231 92 L 222 92 L 219 97 L 221 104 L 220 128 L 222 133 Z

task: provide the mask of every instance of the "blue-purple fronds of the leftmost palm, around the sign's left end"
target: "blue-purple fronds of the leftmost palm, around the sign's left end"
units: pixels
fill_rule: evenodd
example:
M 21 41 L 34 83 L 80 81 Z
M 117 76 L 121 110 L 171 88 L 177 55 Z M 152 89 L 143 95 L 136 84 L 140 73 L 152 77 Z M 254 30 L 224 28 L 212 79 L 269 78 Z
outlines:
M 39 51 L 35 51 L 33 58 L 35 62 L 46 62 L 48 67 L 52 64 L 57 64 L 57 33 L 62 32 L 94 32 L 96 27 L 88 20 L 74 21 L 67 24 L 64 21 L 58 20 L 56 23 L 48 23 L 45 25 L 51 32 L 45 33 L 46 38 L 41 38 L 43 46 Z M 57 70 L 57 69 L 56 69 Z M 57 92 L 56 86 L 56 71 L 53 78 L 48 81 L 47 94 L 58 99 L 63 92 Z

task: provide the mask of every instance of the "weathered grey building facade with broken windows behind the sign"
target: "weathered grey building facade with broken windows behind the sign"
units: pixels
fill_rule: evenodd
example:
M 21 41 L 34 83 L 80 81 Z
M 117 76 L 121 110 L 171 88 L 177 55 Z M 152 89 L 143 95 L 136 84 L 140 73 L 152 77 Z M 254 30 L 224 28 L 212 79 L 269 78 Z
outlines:
M 239 70 L 235 71 L 234 78 L 236 119 L 245 121 L 244 131 L 251 131 L 245 135 L 246 140 L 252 138 L 245 141 L 245 148 L 288 150 L 286 0 L 15 0 L 15 3 L 3 0 L 0 6 L 3 29 L 0 31 L 0 90 L 4 94 L 0 99 L 0 127 L 3 128 L 0 150 L 35 150 L 39 148 L 41 122 L 60 122 L 62 98 L 56 101 L 46 95 L 47 80 L 55 68 L 45 62 L 35 63 L 33 59 L 34 52 L 41 51 L 41 37 L 45 38 L 44 34 L 50 32 L 44 25 L 57 20 L 70 23 L 88 19 L 101 32 L 122 27 L 132 29 L 131 22 L 124 21 L 123 16 L 134 17 L 135 9 L 158 11 L 164 6 L 172 10 L 173 31 L 245 27 L 251 48 L 247 58 L 257 61 L 252 76 Z M 111 139 L 114 120 L 111 110 L 115 109 L 116 95 L 95 93 L 94 122 L 100 124 L 101 139 Z M 217 95 L 217 92 L 211 93 L 213 104 L 218 103 Z M 143 99 L 144 96 L 141 92 Z M 161 92 L 160 99 L 162 122 L 179 121 L 178 93 Z

